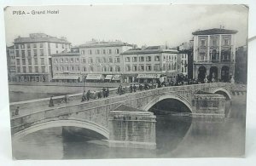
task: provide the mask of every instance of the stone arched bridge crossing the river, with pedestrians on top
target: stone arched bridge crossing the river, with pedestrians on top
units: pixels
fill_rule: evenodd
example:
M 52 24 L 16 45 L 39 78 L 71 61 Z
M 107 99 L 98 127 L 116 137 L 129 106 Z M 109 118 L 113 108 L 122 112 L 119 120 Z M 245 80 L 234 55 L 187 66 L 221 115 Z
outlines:
M 49 98 L 15 102 L 10 103 L 10 111 L 15 111 L 19 106 L 20 115 L 11 117 L 11 132 L 13 138 L 18 139 L 41 129 L 78 127 L 92 130 L 105 140 L 113 140 L 112 146 L 149 145 L 148 148 L 154 148 L 155 117 L 148 112 L 152 106 L 165 99 L 179 100 L 188 107 L 192 117 L 222 118 L 225 100 L 231 100 L 231 90 L 230 83 L 203 83 L 122 95 L 116 94 L 116 89 L 111 89 L 110 97 L 86 102 L 80 102 L 81 94 L 72 94 L 71 102 L 67 104 L 58 104 L 57 100 L 62 97 L 55 97 L 54 107 L 48 107 Z M 127 112 L 119 110 L 120 106 L 126 106 Z M 132 129 L 128 129 L 130 127 L 126 124 Z M 149 131 L 146 132 L 145 128 L 149 128 Z M 130 137 L 127 138 L 127 135 Z M 128 144 L 117 145 L 118 141 Z M 137 146 L 136 142 L 142 146 Z

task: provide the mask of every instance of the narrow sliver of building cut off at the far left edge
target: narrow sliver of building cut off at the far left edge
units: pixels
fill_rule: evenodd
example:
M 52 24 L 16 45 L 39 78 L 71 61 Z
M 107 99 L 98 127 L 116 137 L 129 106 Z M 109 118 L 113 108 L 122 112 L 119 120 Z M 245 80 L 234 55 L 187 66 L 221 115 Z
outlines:
M 8 80 L 15 81 L 15 46 L 6 47 Z

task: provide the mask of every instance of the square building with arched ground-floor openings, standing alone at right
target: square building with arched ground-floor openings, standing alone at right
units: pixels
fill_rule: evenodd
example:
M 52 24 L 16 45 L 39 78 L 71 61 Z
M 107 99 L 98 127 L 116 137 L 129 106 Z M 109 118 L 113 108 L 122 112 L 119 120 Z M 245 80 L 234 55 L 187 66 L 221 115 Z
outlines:
M 229 82 L 235 74 L 236 30 L 220 28 L 195 31 L 194 35 L 194 78 L 203 82 Z M 213 78 L 213 79 L 212 79 Z

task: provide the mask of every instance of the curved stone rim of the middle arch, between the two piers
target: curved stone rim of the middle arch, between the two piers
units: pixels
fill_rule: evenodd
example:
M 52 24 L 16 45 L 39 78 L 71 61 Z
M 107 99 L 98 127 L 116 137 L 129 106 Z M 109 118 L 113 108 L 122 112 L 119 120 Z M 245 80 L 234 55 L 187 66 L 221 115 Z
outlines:
M 189 103 L 189 101 L 177 94 L 163 94 L 163 95 L 157 96 L 154 100 L 149 101 L 146 106 L 143 106 L 143 110 L 148 112 L 148 110 L 152 106 L 154 106 L 161 100 L 165 100 L 165 99 L 174 99 L 174 100 L 178 100 L 178 101 L 182 102 L 185 106 L 187 106 L 189 108 L 189 111 L 192 113 L 193 109 L 192 109 L 192 106 Z

